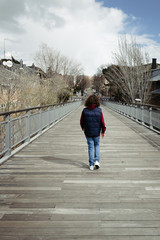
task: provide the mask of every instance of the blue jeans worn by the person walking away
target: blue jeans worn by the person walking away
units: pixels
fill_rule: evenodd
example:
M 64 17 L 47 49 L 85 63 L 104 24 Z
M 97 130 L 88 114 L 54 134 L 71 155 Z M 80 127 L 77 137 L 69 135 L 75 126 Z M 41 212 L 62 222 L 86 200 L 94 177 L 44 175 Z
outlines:
M 86 137 L 88 143 L 89 165 L 94 166 L 94 162 L 100 160 L 100 137 Z

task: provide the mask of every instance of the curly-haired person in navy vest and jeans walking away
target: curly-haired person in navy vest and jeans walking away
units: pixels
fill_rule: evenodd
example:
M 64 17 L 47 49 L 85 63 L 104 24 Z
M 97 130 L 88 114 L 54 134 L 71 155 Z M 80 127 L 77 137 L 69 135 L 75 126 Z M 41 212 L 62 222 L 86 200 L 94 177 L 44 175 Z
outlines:
M 104 117 L 100 106 L 99 98 L 96 95 L 90 95 L 85 104 L 80 119 L 80 125 L 87 139 L 89 169 L 94 170 L 100 167 L 100 134 L 104 138 L 106 131 Z

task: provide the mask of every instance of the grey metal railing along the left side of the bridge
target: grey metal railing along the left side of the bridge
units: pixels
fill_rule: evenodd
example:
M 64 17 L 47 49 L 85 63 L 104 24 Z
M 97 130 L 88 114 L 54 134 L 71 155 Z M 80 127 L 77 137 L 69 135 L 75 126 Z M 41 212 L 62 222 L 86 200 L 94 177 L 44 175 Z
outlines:
M 0 113 L 0 164 L 77 109 L 81 101 Z M 16 117 L 17 115 L 20 115 Z

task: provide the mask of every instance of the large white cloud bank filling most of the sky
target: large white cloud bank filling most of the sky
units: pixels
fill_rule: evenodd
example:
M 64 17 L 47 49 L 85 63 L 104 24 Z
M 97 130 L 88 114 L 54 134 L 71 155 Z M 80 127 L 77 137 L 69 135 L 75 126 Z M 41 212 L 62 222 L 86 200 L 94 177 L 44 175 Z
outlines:
M 23 4 L 21 0 L 16 2 L 13 14 L 7 12 L 6 21 L 4 18 L 2 21 L 0 17 L 5 26 L 4 31 L 4 27 L 0 25 L 1 38 L 15 41 L 6 42 L 6 52 L 14 53 L 17 59 L 23 58 L 31 64 L 35 51 L 44 42 L 80 62 L 85 74 L 94 74 L 101 64 L 112 61 L 118 35 L 126 31 L 127 20 L 130 23 L 135 21 L 133 16 L 129 17 L 119 9 L 104 7 L 95 0 L 24 0 Z M 13 1 L 3 0 L 0 2 L 0 13 L 4 3 L 5 9 L 7 6 L 12 8 L 9 4 L 13 4 Z M 20 8 L 18 3 L 21 3 Z M 14 27 L 14 33 L 7 28 L 6 23 L 9 22 Z M 150 41 L 148 36 L 143 36 L 142 39 L 146 44 Z M 153 48 L 154 44 L 152 43 Z M 1 41 L 1 49 L 2 45 Z

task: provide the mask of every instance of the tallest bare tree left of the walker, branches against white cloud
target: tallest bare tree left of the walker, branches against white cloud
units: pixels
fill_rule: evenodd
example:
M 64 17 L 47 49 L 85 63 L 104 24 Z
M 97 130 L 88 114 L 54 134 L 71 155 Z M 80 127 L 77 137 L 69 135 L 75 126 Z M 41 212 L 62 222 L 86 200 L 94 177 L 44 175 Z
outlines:
M 59 99 L 63 99 L 63 94 L 66 99 L 68 92 L 70 92 L 69 95 L 73 93 L 76 77 L 82 74 L 80 64 L 61 55 L 59 51 L 51 49 L 44 43 L 40 45 L 39 50 L 36 52 L 35 61 L 46 72 L 47 79 L 45 83 L 50 86 L 50 89 L 53 92 L 54 89 L 59 89 L 59 92 L 56 90 L 57 96 L 60 96 Z

